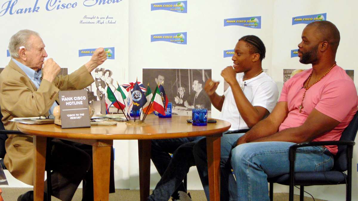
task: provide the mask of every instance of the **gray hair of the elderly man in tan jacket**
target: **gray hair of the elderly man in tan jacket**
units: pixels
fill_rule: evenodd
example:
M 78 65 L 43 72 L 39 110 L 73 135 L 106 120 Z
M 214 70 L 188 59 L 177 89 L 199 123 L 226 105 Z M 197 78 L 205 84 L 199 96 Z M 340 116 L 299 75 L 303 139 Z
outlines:
M 29 29 L 20 30 L 18 33 L 11 36 L 9 42 L 9 52 L 12 58 L 19 58 L 19 48 L 21 46 L 25 46 L 27 49 L 31 48 L 29 38 L 32 35 L 39 36 L 37 32 Z

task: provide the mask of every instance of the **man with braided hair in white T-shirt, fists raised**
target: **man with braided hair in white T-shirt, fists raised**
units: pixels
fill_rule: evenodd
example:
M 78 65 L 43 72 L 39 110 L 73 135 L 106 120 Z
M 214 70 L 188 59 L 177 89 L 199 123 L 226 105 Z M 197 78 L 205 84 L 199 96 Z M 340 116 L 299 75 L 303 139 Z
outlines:
M 221 72 L 221 76 L 230 85 L 224 95 L 219 96 L 215 93 L 219 82 L 208 79 L 205 83 L 204 90 L 211 103 L 221 111 L 219 119 L 231 123 L 229 129 L 231 133 L 235 133 L 238 129 L 251 128 L 275 107 L 278 98 L 277 86 L 261 67 L 265 53 L 265 45 L 260 38 L 253 35 L 243 36 L 235 46 L 235 54 L 232 57 L 234 65 L 224 68 Z M 236 134 L 232 135 L 236 136 Z M 155 143 L 152 141 L 152 160 L 154 158 L 153 162 L 157 170 L 164 159 L 156 155 L 163 153 L 164 157 L 169 152 L 173 153 L 173 158 L 166 163 L 165 171 L 161 174 L 161 179 L 153 194 L 149 196 L 149 200 L 167 201 L 172 193 L 183 189 L 182 181 L 190 166 L 195 165 L 193 147 L 199 139 L 205 142 L 205 138 L 189 139 L 187 143 L 184 143 L 183 139 L 189 138 L 156 140 Z M 231 148 L 228 149 L 228 152 L 230 151 Z M 203 180 L 204 176 L 200 173 L 202 172 L 199 172 L 199 175 Z M 223 181 L 226 181 L 224 183 L 228 183 L 228 179 L 233 179 L 232 174 L 231 178 L 228 178 L 228 175 L 222 177 Z M 226 192 L 221 193 L 223 195 L 221 199 L 228 200 L 228 187 L 224 184 L 222 186 Z M 205 185 L 204 190 L 208 196 L 209 190 Z

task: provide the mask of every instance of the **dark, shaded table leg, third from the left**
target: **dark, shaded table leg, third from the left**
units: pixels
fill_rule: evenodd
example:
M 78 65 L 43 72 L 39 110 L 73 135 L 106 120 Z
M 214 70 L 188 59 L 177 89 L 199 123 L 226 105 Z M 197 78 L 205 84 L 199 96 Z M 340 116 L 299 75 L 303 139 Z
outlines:
M 138 154 L 139 154 L 139 188 L 140 200 L 145 201 L 149 196 L 150 185 L 150 139 L 138 140 Z

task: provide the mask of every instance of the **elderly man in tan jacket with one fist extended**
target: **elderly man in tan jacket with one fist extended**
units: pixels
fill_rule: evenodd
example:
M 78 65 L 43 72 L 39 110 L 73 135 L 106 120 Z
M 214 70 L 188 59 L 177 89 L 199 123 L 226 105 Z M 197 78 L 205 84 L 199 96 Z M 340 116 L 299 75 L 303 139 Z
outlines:
M 107 55 L 98 48 L 92 58 L 75 72 L 58 76 L 59 65 L 52 58 L 45 60 L 47 53 L 39 34 L 31 30 L 20 30 L 9 43 L 11 60 L 0 74 L 0 108 L 5 129 L 16 130 L 14 117 L 48 116 L 57 104 L 59 90 L 83 89 L 94 82 L 91 72 L 101 65 Z M 33 137 L 30 135 L 8 135 L 5 142 L 4 163 L 11 175 L 33 185 Z M 79 183 L 88 175 L 92 178 L 91 149 L 83 144 L 54 139 L 52 149 L 53 196 L 71 200 Z M 87 172 L 88 171 L 88 172 Z M 92 181 L 88 181 L 92 183 Z M 86 185 L 84 185 L 84 188 Z M 93 186 L 83 190 L 83 200 L 93 200 Z M 87 194 L 88 196 L 87 196 Z M 92 195 L 92 197 L 91 197 Z M 31 200 L 33 191 L 20 195 L 18 200 Z

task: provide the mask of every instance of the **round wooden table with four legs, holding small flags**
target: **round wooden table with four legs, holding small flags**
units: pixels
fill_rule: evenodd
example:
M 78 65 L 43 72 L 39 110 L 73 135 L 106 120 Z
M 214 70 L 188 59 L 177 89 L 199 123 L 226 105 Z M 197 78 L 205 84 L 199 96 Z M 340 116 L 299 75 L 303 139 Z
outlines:
M 108 200 L 110 153 L 113 139 L 138 139 L 139 181 L 142 201 L 149 196 L 151 139 L 207 136 L 210 200 L 220 199 L 220 137 L 231 124 L 216 119 L 207 126 L 192 126 L 187 116 L 158 118 L 148 115 L 144 124 L 118 122 L 116 126 L 62 129 L 55 124 L 18 123 L 18 129 L 34 136 L 34 198 L 43 200 L 47 137 L 92 145 L 94 200 Z

